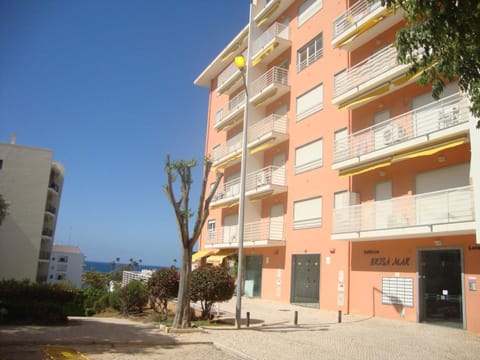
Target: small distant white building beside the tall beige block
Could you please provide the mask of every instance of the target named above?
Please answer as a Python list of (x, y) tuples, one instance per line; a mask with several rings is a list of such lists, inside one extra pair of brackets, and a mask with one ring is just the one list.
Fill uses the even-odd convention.
[(53, 245), (47, 282), (68, 282), (82, 288), (85, 256), (77, 246)]

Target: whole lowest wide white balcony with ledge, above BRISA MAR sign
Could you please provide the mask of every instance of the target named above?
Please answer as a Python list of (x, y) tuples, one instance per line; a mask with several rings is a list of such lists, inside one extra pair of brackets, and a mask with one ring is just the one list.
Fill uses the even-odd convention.
[(408, 239), (475, 233), (471, 186), (333, 210), (332, 240)]

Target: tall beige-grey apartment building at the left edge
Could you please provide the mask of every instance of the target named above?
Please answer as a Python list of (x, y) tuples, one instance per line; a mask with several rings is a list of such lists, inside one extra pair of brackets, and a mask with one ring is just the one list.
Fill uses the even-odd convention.
[(51, 150), (0, 143), (0, 278), (47, 281), (64, 174)]

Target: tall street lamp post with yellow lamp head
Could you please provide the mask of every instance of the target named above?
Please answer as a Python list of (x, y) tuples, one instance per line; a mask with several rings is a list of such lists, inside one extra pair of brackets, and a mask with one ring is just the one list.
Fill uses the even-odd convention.
[(248, 90), (245, 78), (245, 58), (235, 56), (235, 65), (242, 73), (245, 88), (245, 110), (243, 113), (242, 160), (240, 165), (240, 199), (238, 203), (238, 267), (237, 267), (237, 303), (235, 306), (235, 324), (241, 327), (242, 320), (242, 271), (243, 271), (243, 234), (245, 225), (245, 183), (247, 177), (247, 129), (248, 129)]

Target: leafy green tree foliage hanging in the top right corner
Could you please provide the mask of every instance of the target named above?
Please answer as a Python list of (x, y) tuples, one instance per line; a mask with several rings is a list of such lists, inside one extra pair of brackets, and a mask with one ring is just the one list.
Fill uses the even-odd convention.
[[(447, 82), (458, 79), (480, 117), (480, 3), (478, 0), (382, 0), (405, 11), (406, 26), (397, 32), (398, 60), (410, 64), (418, 82), (431, 84), (438, 99)], [(480, 128), (480, 121), (477, 123)]]

